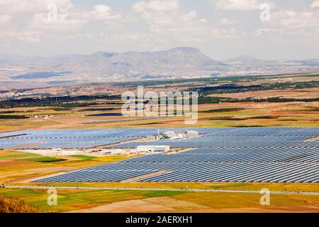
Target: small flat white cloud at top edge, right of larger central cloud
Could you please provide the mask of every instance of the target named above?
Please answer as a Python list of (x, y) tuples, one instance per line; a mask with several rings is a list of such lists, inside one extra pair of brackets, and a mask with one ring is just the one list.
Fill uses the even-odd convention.
[(258, 10), (260, 4), (257, 0), (217, 0), (216, 8), (229, 11)]

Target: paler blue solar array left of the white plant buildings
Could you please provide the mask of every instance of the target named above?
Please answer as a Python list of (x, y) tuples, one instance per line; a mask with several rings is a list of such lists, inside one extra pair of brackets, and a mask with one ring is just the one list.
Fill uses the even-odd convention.
[(0, 148), (92, 148), (156, 134), (157, 129), (25, 130), (0, 133)]

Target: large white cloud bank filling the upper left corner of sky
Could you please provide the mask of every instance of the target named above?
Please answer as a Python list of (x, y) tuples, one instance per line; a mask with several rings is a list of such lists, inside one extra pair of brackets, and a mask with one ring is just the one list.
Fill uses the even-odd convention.
[[(15, 1), (15, 0), (13, 0)], [(105, 26), (103, 29), (109, 32), (116, 33), (117, 24), (123, 23), (121, 14), (113, 11), (109, 6), (96, 5), (91, 8), (76, 6), (69, 4), (69, 0), (50, 0), (50, 1), (33, 1), (34, 9), (24, 8), (24, 0), (21, 0), (21, 5), (18, 10), (14, 9), (9, 1), (0, 0), (0, 5), (11, 10), (11, 15), (0, 14), (1, 36), (0, 43), (3, 40), (11, 40), (11, 42), (19, 41), (21, 43), (40, 43), (42, 40), (52, 39), (57, 42), (63, 42), (63, 39), (68, 40), (70, 37), (81, 39), (89, 37), (92, 33), (84, 31), (84, 26), (91, 21), (103, 21)], [(46, 2), (60, 2), (57, 5), (56, 20), (48, 20), (48, 12)], [(0, 9), (2, 10), (2, 9)], [(17, 13), (28, 13), (31, 19), (26, 21), (11, 22), (11, 17)], [(115, 26), (114, 26), (115, 25)], [(61, 40), (62, 39), (62, 40)]]

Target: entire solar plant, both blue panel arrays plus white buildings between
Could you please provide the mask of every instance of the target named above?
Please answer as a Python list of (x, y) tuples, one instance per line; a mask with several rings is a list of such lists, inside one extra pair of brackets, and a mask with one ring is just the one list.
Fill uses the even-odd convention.
[[(318, 183), (318, 134), (310, 128), (26, 130), (0, 135), (2, 148), (138, 153), (35, 182)], [(70, 135), (73, 135), (72, 137)], [(150, 140), (150, 136), (157, 140)], [(172, 152), (171, 152), (172, 151)], [(61, 152), (61, 151), (60, 151)], [(62, 151), (63, 152), (63, 151)], [(111, 152), (112, 153), (112, 152)]]

